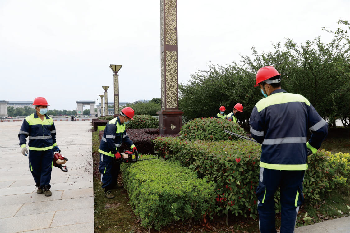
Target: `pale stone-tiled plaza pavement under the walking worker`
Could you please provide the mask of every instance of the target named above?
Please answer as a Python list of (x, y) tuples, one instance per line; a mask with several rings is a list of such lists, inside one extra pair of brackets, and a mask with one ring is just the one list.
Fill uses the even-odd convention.
[(91, 121), (55, 121), (68, 172), (53, 168), (50, 197), (36, 193), (18, 144), (21, 124), (0, 122), (0, 232), (94, 232)]

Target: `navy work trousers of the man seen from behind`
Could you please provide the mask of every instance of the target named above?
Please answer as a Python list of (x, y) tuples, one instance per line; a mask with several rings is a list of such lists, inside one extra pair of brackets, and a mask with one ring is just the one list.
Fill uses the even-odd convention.
[(299, 206), (304, 202), (305, 171), (260, 168), (258, 197), (259, 229), (261, 233), (276, 233), (274, 196), (281, 192), (281, 233), (293, 233)]

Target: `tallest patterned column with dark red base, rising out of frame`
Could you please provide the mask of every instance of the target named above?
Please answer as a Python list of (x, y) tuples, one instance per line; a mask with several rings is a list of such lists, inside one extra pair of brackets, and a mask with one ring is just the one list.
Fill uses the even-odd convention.
[(160, 0), (161, 111), (159, 133), (177, 134), (181, 128), (177, 54), (177, 0)]

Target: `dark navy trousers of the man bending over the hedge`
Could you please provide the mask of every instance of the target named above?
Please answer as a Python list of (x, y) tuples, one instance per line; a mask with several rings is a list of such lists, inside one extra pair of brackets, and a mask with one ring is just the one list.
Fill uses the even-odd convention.
[(102, 188), (111, 190), (118, 184), (120, 161), (113, 160), (114, 157), (100, 153), (100, 167)]

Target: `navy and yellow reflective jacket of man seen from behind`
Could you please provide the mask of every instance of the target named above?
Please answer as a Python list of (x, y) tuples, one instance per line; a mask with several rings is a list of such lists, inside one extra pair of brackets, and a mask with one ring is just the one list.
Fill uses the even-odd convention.
[(276, 170), (306, 170), (307, 148), (316, 153), (328, 132), (327, 122), (305, 97), (282, 89), (258, 101), (249, 125), (262, 144), (260, 167)]

